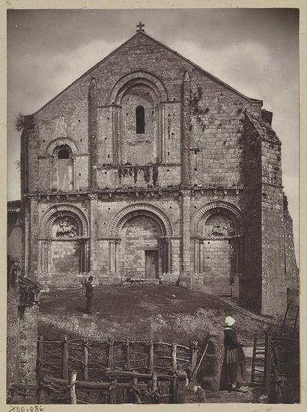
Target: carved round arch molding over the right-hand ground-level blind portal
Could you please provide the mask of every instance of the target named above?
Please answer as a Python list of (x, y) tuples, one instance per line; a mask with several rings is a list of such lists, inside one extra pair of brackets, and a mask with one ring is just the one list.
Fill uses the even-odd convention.
[(216, 213), (222, 213), (232, 218), (236, 228), (236, 233), (239, 235), (244, 234), (245, 217), (241, 209), (235, 205), (232, 205), (232, 203), (224, 201), (214, 201), (201, 206), (191, 220), (191, 234), (193, 236), (201, 236), (201, 223), (205, 222), (209, 216)]

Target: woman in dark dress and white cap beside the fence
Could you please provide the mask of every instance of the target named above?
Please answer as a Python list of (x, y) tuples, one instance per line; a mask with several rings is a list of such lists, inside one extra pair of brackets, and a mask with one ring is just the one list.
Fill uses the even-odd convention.
[(225, 319), (224, 329), (224, 359), (221, 369), (220, 391), (247, 392), (248, 388), (241, 386), (246, 377), (245, 354), (241, 343), (238, 343), (236, 332), (232, 329), (234, 318)]

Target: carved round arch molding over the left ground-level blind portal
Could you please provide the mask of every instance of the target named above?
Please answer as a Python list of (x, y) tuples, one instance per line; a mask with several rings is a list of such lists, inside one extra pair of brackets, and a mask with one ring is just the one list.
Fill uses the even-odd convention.
[(88, 218), (79, 207), (71, 203), (60, 203), (49, 207), (40, 219), (40, 238), (51, 238), (51, 227), (59, 216), (71, 216), (79, 225), (79, 236), (88, 237)]

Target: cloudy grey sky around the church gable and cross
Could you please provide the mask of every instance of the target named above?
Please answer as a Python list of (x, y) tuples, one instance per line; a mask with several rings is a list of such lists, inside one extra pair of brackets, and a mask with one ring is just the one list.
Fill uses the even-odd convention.
[(295, 9), (9, 10), (8, 199), (20, 197), (16, 114), (36, 111), (143, 21), (149, 36), (273, 111), (297, 245), (298, 18)]

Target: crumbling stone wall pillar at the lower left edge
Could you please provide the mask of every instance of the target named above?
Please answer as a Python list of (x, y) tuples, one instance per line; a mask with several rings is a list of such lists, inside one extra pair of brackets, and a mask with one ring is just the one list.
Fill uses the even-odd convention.
[(19, 259), (8, 256), (7, 387), (36, 383), (40, 286), (20, 273)]

